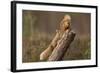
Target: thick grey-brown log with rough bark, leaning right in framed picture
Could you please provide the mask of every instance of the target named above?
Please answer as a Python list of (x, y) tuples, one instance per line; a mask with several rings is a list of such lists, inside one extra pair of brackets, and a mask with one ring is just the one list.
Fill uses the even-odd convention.
[(57, 46), (54, 48), (52, 54), (49, 56), (48, 61), (62, 60), (71, 42), (74, 40), (75, 33), (73, 31), (66, 31), (62, 38), (59, 40)]

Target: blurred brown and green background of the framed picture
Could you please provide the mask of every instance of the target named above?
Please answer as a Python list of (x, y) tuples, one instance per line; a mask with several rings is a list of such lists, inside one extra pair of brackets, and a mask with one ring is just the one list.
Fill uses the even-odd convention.
[(76, 36), (63, 60), (91, 59), (91, 15), (89, 13), (23, 10), (23, 63), (40, 62), (40, 53), (50, 44), (66, 14), (72, 18), (71, 28), (76, 32)]

